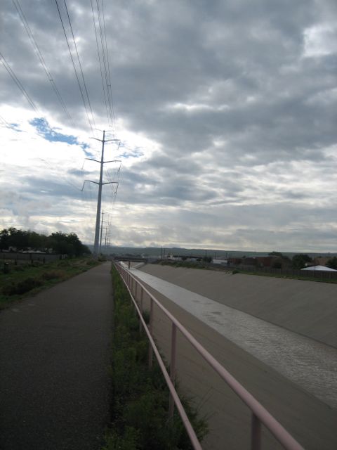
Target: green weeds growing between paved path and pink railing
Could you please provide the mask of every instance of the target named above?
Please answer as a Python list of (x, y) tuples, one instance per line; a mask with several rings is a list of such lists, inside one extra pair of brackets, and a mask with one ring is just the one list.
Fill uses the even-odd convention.
[[(140, 333), (136, 313), (116, 269), (112, 337), (112, 423), (104, 450), (192, 449), (180, 416), (168, 418), (169, 389), (155, 362), (147, 367), (148, 340)], [(206, 434), (204, 421), (184, 401), (199, 439)]]

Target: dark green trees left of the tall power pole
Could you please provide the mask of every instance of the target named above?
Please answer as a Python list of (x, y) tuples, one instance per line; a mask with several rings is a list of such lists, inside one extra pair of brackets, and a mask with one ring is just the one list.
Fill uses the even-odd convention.
[(81, 243), (76, 233), (57, 231), (46, 236), (36, 231), (18, 230), (14, 227), (0, 231), (0, 250), (25, 252), (35, 250), (68, 256), (89, 255), (91, 251)]

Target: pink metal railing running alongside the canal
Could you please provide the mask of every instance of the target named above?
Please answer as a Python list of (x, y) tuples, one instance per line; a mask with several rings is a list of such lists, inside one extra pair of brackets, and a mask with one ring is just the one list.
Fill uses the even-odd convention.
[[(176, 389), (174, 387), (174, 380), (176, 378), (176, 332), (177, 329), (182, 333), (188, 342), (199, 352), (199, 354), (207, 361), (209, 366), (216, 371), (223, 380), (230, 386), (230, 388), (237, 394), (237, 396), (244, 401), (246, 406), (251, 410), (251, 450), (261, 449), (261, 424), (274, 435), (277, 441), (284, 446), (286, 450), (304, 450), (303, 446), (298, 444), (298, 442), (286, 431), (282, 425), (277, 422), (277, 420), (251, 395), (240, 383), (228, 372), (226, 369), (204, 348), (201, 344), (186, 330), (186, 328), (174, 317), (166, 308), (164, 308), (161, 303), (150, 293), (147, 288), (140, 283), (140, 281), (131, 274), (130, 271), (126, 270), (120, 264), (114, 264), (124, 280), (126, 288), (131, 295), (131, 300), (136, 307), (136, 311), (140, 317), (140, 327), (143, 325), (145, 333), (150, 340), (149, 345), (149, 366), (152, 364), (152, 352), (154, 352), (161, 371), (164, 374), (167, 385), (171, 392), (170, 403), (169, 403), (169, 416), (173, 416), (174, 404), (178, 409), (181, 419), (185, 425), (188, 435), (190, 436), (192, 446), (195, 450), (201, 450), (201, 444), (199, 443), (197, 436), (192, 428), (190, 420), (188, 420), (183, 405), (180, 402)], [(140, 288), (140, 302), (139, 306), (136, 301), (138, 295), (138, 287)], [(147, 327), (143, 319), (143, 295), (146, 293), (150, 297), (150, 323)], [(172, 323), (171, 330), (171, 361), (170, 361), (170, 375), (166, 371), (164, 362), (158, 352), (158, 349), (152, 338), (152, 327), (153, 327), (153, 305), (156, 304), (161, 311), (166, 314)], [(174, 403), (173, 403), (174, 402)]]

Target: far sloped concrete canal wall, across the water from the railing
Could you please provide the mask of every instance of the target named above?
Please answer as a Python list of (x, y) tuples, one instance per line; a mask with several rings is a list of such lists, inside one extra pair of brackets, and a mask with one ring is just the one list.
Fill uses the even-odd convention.
[(337, 284), (159, 264), (140, 270), (337, 348)]

